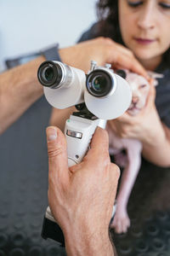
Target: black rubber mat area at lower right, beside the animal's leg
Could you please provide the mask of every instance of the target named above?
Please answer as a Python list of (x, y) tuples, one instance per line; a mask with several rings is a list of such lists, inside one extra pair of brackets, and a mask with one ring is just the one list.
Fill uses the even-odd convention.
[(170, 169), (143, 160), (128, 203), (126, 234), (111, 230), (118, 255), (170, 255)]

